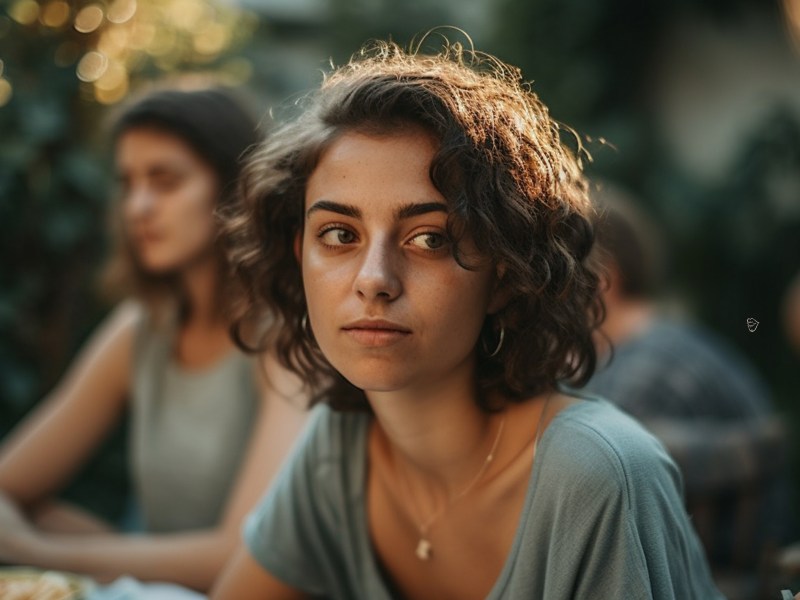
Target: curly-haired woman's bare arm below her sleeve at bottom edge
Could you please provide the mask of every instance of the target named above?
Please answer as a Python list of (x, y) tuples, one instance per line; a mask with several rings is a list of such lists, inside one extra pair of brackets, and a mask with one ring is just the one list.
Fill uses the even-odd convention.
[(265, 571), (241, 546), (220, 575), (209, 600), (304, 600), (306, 594)]

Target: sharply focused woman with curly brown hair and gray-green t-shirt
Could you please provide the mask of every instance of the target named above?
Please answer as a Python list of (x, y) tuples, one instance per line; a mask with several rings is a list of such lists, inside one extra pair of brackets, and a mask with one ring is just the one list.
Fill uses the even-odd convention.
[(250, 316), (325, 403), (213, 598), (720, 597), (663, 448), (562, 385), (595, 363), (592, 211), (516, 69), (366, 48), (243, 192)]

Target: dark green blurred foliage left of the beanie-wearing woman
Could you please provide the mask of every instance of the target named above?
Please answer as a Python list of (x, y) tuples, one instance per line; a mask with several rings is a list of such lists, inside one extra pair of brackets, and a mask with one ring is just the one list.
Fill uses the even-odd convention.
[[(0, 435), (62, 374), (104, 307), (94, 274), (105, 254), (109, 174), (97, 142), (101, 108), (81, 98), (74, 30), (42, 31), (0, 13), (0, 60), (12, 96), (0, 107)], [(114, 517), (127, 493), (120, 436), (67, 495)], [(89, 492), (107, 478), (114, 494)], [(80, 482), (84, 482), (81, 484)], [(82, 493), (86, 490), (86, 494)]]

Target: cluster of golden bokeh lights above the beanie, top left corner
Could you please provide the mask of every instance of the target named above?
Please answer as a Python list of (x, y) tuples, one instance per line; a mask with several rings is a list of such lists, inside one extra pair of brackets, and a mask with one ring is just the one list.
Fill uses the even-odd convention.
[[(246, 59), (219, 62), (258, 23), (224, 0), (11, 0), (8, 16), (0, 20), (9, 26), (16, 21), (67, 34), (53, 52), (54, 64), (74, 68), (81, 97), (103, 104), (122, 100), (154, 68), (213, 73), (229, 85), (244, 84), (253, 73)], [(13, 81), (3, 81), (7, 102)]]

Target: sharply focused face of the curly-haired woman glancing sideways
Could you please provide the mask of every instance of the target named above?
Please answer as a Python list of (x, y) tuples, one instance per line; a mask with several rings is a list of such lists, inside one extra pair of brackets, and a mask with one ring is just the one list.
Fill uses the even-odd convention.
[(455, 261), (447, 202), (428, 175), (436, 150), (421, 130), (345, 133), (309, 178), (301, 254), (314, 336), (365, 391), (430, 389), (472, 378), (495, 269), (469, 240)]

